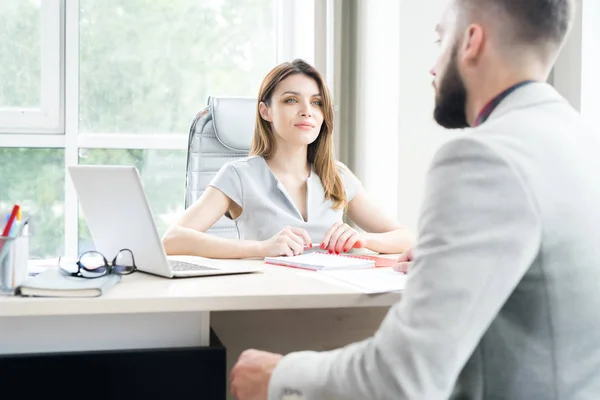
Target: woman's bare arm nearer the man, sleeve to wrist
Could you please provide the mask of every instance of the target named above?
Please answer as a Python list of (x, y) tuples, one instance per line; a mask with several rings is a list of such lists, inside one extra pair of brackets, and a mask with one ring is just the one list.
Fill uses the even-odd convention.
[(378, 253), (402, 253), (414, 245), (414, 235), (381, 211), (364, 189), (348, 203), (348, 217), (366, 233), (363, 247)]

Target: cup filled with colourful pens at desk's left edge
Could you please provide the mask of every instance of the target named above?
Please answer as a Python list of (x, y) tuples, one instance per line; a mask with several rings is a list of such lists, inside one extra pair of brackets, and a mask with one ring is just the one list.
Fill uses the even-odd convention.
[(27, 278), (29, 260), (29, 219), (13, 207), (0, 236), (0, 295), (14, 294)]

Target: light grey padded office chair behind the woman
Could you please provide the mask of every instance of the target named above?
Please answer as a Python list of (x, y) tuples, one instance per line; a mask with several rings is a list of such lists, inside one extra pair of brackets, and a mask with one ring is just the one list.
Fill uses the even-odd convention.
[[(211, 96), (192, 121), (188, 139), (185, 208), (200, 198), (227, 162), (248, 156), (256, 118), (256, 99)], [(235, 223), (221, 217), (206, 233), (238, 238)]]

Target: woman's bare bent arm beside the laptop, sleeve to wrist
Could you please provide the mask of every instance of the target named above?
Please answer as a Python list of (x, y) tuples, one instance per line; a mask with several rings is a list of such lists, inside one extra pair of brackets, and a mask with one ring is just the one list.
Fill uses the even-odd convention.
[(206, 234), (228, 210), (239, 207), (223, 192), (211, 186), (167, 229), (162, 243), (168, 255), (194, 255), (209, 258), (262, 257), (262, 242), (226, 239)]

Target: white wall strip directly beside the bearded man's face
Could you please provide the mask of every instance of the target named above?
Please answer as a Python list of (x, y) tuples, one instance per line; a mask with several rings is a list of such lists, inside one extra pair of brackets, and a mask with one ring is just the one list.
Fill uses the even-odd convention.
[(435, 92), (429, 71), (437, 56), (435, 26), (446, 0), (400, 2), (398, 111), (398, 218), (416, 232), (425, 176), (438, 147), (454, 133), (433, 120)]

